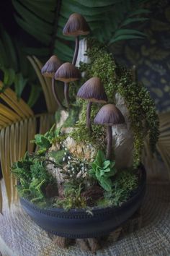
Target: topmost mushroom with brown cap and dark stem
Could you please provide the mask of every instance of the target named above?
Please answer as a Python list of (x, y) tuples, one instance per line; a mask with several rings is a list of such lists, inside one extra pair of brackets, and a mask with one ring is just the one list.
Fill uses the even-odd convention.
[(76, 64), (77, 55), (79, 52), (79, 35), (88, 35), (90, 32), (89, 25), (81, 14), (73, 13), (66, 22), (63, 28), (63, 35), (76, 37), (76, 46), (73, 54), (72, 64)]

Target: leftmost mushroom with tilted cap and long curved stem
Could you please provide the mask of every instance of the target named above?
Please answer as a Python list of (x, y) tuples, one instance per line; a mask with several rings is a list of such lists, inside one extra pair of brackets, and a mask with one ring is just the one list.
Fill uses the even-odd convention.
[(53, 95), (55, 98), (55, 101), (58, 103), (58, 106), (61, 108), (65, 108), (61, 101), (58, 98), (57, 93), (55, 92), (55, 79), (54, 79), (54, 74), (58, 70), (58, 68), (61, 67), (61, 61), (58, 59), (57, 56), (53, 55), (48, 59), (48, 61), (45, 63), (45, 65), (41, 69), (41, 73), (45, 77), (51, 77), (52, 79), (52, 90), (53, 90)]

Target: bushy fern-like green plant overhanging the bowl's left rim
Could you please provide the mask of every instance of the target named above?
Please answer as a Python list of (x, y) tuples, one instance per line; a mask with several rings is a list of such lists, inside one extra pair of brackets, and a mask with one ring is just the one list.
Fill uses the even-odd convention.
[(17, 176), (19, 195), (30, 198), (32, 202), (45, 199), (45, 187), (55, 185), (55, 180), (46, 170), (48, 160), (37, 154), (25, 153), (21, 161), (12, 165), (12, 173)]

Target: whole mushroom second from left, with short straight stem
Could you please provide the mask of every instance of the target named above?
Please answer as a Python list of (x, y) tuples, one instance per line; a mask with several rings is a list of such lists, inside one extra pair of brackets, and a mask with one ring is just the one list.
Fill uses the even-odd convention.
[(66, 62), (59, 67), (57, 72), (55, 72), (55, 80), (60, 80), (64, 82), (64, 95), (66, 103), (69, 106), (69, 95), (68, 95), (68, 82), (79, 80), (81, 73), (73, 64)]

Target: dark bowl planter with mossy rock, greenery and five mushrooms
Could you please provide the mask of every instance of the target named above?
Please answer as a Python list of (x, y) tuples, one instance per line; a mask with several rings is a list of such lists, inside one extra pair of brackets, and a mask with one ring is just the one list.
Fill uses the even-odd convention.
[(63, 35), (76, 38), (72, 63), (54, 55), (42, 67), (58, 103), (55, 124), (12, 166), (24, 210), (42, 229), (71, 239), (109, 234), (138, 210), (144, 140), (149, 135), (152, 151), (158, 140), (155, 106), (136, 68), (120, 67), (89, 33), (84, 17), (69, 17)]

